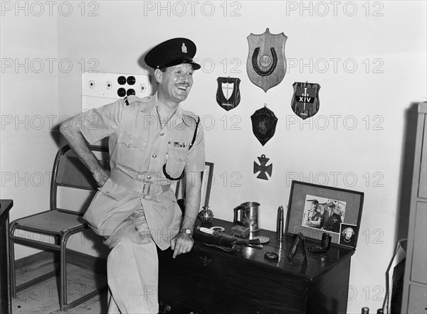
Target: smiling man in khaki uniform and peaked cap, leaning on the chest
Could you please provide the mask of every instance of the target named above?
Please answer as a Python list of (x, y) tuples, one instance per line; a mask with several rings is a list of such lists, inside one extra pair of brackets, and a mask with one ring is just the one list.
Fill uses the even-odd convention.
[[(157, 93), (129, 96), (74, 117), (60, 126), (100, 185), (85, 213), (111, 249), (107, 259), (108, 313), (158, 313), (156, 245), (173, 257), (191, 251), (199, 212), (204, 134), (199, 117), (181, 109), (188, 96), (196, 45), (186, 38), (147, 53)], [(96, 121), (96, 124), (93, 124)], [(72, 123), (70, 123), (72, 122)], [(109, 136), (110, 172), (88, 148)], [(185, 172), (183, 172), (185, 170)], [(184, 219), (170, 184), (186, 175)]]

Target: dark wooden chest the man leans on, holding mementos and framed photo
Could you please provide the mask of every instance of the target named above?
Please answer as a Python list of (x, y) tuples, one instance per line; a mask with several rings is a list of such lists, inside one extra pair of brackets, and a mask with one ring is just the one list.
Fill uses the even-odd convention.
[[(196, 222), (196, 226), (199, 225)], [(231, 222), (213, 220), (226, 228)], [(287, 259), (294, 237), (282, 247), (275, 232), (260, 230), (270, 238), (262, 249), (243, 247), (223, 251), (208, 247), (195, 234), (191, 252), (172, 259), (172, 250), (159, 251), (159, 303), (165, 313), (346, 313), (350, 258), (354, 251), (331, 247), (327, 253), (308, 253), (308, 266), (297, 251)], [(320, 241), (306, 239), (306, 246)], [(281, 254), (279, 261), (265, 259), (265, 251)], [(166, 310), (167, 310), (166, 309)]]

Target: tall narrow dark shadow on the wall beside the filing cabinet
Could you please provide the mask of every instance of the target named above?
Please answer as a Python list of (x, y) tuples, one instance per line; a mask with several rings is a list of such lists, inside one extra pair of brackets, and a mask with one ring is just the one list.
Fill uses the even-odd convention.
[(408, 237), (409, 206), (411, 205), (417, 119), (418, 102), (412, 103), (405, 112), (404, 143), (402, 145), (401, 180), (399, 186), (399, 210), (397, 211), (396, 217), (396, 241)]

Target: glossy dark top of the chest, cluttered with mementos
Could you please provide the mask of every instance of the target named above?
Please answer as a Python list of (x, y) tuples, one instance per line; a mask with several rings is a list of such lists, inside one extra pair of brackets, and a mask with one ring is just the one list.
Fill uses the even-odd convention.
[[(196, 221), (196, 226), (198, 225), (201, 225), (199, 220)], [(201, 226), (221, 226), (225, 228), (226, 234), (231, 234), (231, 227), (233, 227), (233, 223), (227, 222), (225, 220), (214, 219), (209, 225)], [(241, 251), (223, 251), (216, 247), (209, 247), (204, 244), (203, 239), (206, 235), (198, 232), (194, 236), (194, 251), (203, 251), (206, 253), (215, 252), (215, 254), (222, 255), (227, 259), (236, 259), (238, 261), (241, 261), (241, 259), (248, 259), (251, 261), (251, 263), (258, 264), (259, 266), (268, 267), (274, 271), (293, 274), (294, 276), (300, 276), (302, 278), (306, 278), (307, 280), (313, 280), (318, 276), (325, 274), (325, 272), (333, 269), (334, 266), (337, 266), (337, 264), (350, 259), (350, 257), (354, 254), (352, 249), (337, 247), (333, 244), (325, 253), (312, 254), (310, 251), (308, 251), (308, 248), (320, 245), (320, 240), (305, 238), (308, 263), (305, 264), (302, 249), (297, 249), (295, 256), (292, 259), (292, 263), (290, 263), (288, 260), (288, 252), (292, 247), (295, 235), (285, 235), (282, 242), (276, 239), (276, 233), (272, 231), (260, 229), (260, 231), (256, 232), (255, 235), (268, 237), (270, 241), (263, 244), (263, 248), (243, 246)], [(279, 255), (279, 259), (266, 259), (264, 255), (266, 251), (275, 252)]]

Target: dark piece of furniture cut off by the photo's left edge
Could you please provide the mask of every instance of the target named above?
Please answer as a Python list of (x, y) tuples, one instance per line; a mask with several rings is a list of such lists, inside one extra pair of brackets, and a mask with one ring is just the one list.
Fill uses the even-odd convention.
[(13, 200), (0, 200), (0, 313), (12, 313), (9, 281), (9, 210)]

